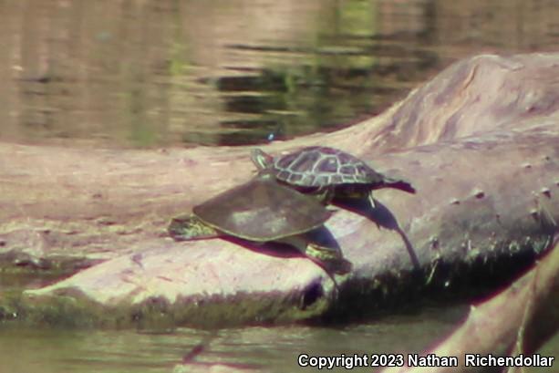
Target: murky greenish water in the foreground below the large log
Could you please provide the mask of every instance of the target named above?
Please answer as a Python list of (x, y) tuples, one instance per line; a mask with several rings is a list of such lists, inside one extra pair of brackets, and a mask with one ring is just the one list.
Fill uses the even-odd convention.
[[(181, 328), (166, 333), (0, 328), (0, 361), (7, 368), (3, 372), (14, 373), (125, 373), (139, 369), (163, 372), (181, 363), (192, 347), (207, 343), (195, 361), (208, 368), (220, 363), (289, 372), (298, 368), (300, 354), (348, 356), (418, 351), (447, 333), (465, 309), (424, 310), (421, 315), (393, 316), (380, 323), (336, 328), (245, 327), (217, 332)], [(418, 323), (418, 316), (424, 322)]]

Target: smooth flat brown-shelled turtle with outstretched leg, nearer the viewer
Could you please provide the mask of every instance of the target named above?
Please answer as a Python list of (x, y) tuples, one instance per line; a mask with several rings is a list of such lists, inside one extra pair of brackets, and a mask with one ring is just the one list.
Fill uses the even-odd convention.
[[(225, 191), (171, 220), (176, 241), (229, 237), (253, 243), (286, 243), (326, 271), (346, 274), (351, 264), (339, 247), (318, 243), (332, 212), (316, 199), (278, 183), (271, 172)], [(327, 230), (326, 230), (327, 231)]]

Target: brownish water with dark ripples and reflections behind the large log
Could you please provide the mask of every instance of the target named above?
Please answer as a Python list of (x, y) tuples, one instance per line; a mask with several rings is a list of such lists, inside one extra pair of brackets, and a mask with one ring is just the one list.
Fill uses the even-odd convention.
[(0, 140), (245, 144), (335, 129), (457, 58), (557, 50), (559, 8), (545, 4), (1, 2)]

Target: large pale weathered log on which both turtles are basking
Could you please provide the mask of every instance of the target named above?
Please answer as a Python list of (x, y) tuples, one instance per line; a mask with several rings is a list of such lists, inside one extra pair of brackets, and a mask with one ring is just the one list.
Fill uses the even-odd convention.
[(5, 309), (34, 322), (220, 326), (499, 285), (557, 231), (558, 64), (559, 54), (471, 57), (376, 118), (264, 147), (333, 146), (417, 189), (377, 191), (376, 210), (326, 222), (353, 264), (336, 278), (295, 254), (166, 236), (171, 217), (254, 176), (247, 148), (0, 143), (2, 267), (74, 274)]

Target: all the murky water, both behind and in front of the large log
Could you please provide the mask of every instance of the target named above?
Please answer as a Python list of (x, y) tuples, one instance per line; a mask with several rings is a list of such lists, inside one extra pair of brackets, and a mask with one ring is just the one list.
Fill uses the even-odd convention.
[[(559, 6), (7, 0), (0, 2), (0, 46), (2, 141), (247, 144), (374, 115), (461, 57), (557, 51)], [(198, 359), (295, 371), (302, 352), (420, 350), (463, 311), (423, 310), (338, 328), (225, 329)], [(171, 371), (208, 335), (0, 326), (0, 372)], [(558, 355), (559, 338), (545, 348)]]

